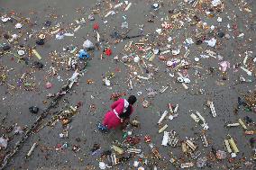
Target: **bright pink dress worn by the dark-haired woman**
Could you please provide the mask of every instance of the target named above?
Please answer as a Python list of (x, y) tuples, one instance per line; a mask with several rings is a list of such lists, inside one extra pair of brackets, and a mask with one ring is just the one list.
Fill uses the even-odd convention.
[[(122, 123), (119, 115), (123, 113), (123, 110), (124, 110), (124, 99), (117, 100), (116, 102), (111, 104), (110, 107), (112, 111), (108, 111), (105, 113), (105, 118), (103, 121), (103, 125), (106, 126), (109, 130), (115, 129)], [(114, 111), (118, 115), (118, 117), (114, 113)], [(133, 113), (133, 106), (132, 106), (132, 113)]]

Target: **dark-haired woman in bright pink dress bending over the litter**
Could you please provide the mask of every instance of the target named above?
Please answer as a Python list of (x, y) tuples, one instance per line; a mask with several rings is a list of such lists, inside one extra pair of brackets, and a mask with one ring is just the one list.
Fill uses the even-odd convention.
[(103, 124), (98, 124), (98, 129), (104, 132), (114, 130), (124, 121), (129, 120), (133, 113), (133, 103), (136, 101), (136, 97), (131, 95), (128, 100), (121, 98), (111, 104), (111, 111), (105, 113)]

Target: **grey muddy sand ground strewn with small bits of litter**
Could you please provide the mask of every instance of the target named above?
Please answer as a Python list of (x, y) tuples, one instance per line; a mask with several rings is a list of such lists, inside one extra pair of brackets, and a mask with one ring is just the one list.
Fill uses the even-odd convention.
[[(67, 70), (67, 54), (69, 58), (69, 52), (64, 52), (63, 48), (67, 46), (77, 46), (78, 49), (82, 48), (84, 40), (92, 40), (96, 42), (96, 32), (92, 27), (95, 22), (99, 24), (99, 34), (101, 35), (101, 49), (91, 52), (92, 58), (88, 61), (87, 73), (81, 76), (78, 80), (78, 85), (74, 85), (71, 92), (66, 94), (60, 101), (57, 108), (54, 108), (50, 112), (58, 112), (65, 106), (76, 105), (78, 102), (82, 103), (82, 106), (78, 109), (78, 114), (72, 117), (72, 121), (69, 123), (69, 139), (60, 139), (59, 133), (61, 133), (61, 124), (58, 122), (53, 127), (45, 127), (42, 130), (32, 134), (32, 136), (26, 140), (21, 150), (14, 155), (5, 169), (99, 169), (98, 162), (102, 151), (111, 149), (110, 146), (114, 140), (122, 141), (122, 130), (114, 130), (110, 134), (102, 134), (96, 129), (96, 122), (102, 121), (105, 112), (109, 110), (109, 105), (112, 103), (110, 95), (115, 92), (123, 93), (127, 95), (135, 94), (138, 97), (138, 102), (135, 104), (135, 112), (132, 116), (141, 121), (141, 128), (134, 128), (133, 135), (139, 135), (142, 141), (135, 146), (135, 148), (141, 148), (145, 157), (148, 157), (149, 162), (153, 162), (150, 156), (150, 148), (143, 141), (145, 135), (150, 135), (152, 143), (154, 143), (160, 150), (160, 154), (163, 157), (158, 162), (157, 167), (159, 169), (174, 169), (175, 167), (169, 163), (169, 154), (172, 152), (173, 156), (178, 159), (183, 159), (183, 162), (194, 162), (191, 157), (184, 157), (181, 148), (171, 148), (161, 146), (161, 140), (163, 134), (159, 134), (159, 126), (157, 125), (160, 119), (160, 114), (164, 111), (168, 111), (168, 103), (178, 104), (178, 118), (174, 120), (164, 120), (164, 124), (168, 124), (168, 131), (176, 130), (179, 135), (179, 139), (186, 140), (186, 138), (196, 138), (197, 134), (202, 133), (202, 127), (197, 125), (195, 121), (190, 118), (192, 112), (200, 112), (208, 123), (209, 130), (206, 130), (206, 136), (209, 141), (209, 147), (205, 148), (202, 145), (201, 139), (195, 139), (197, 144), (197, 150), (201, 151), (200, 157), (208, 157), (207, 162), (211, 163), (213, 167), (205, 167), (205, 169), (232, 169), (234, 163), (241, 164), (242, 169), (250, 169), (252, 166), (245, 166), (245, 162), (254, 163), (251, 157), (253, 156), (252, 148), (249, 143), (249, 139), (255, 138), (254, 136), (245, 136), (242, 127), (226, 128), (224, 125), (228, 122), (237, 122), (239, 118), (243, 119), (245, 116), (249, 116), (255, 121), (255, 113), (246, 112), (241, 107), (237, 114), (235, 114), (234, 107), (237, 104), (238, 96), (241, 94), (248, 94), (255, 90), (255, 62), (252, 61), (255, 58), (255, 3), (253, 1), (237, 1), (227, 0), (224, 1), (224, 12), (212, 12), (215, 15), (208, 17), (204, 11), (209, 10), (211, 1), (206, 1), (202, 4), (201, 8), (197, 6), (192, 7), (192, 4), (183, 4), (184, 1), (166, 0), (160, 3), (160, 9), (154, 11), (151, 9), (151, 4), (157, 3), (157, 1), (135, 1), (131, 0), (132, 6), (126, 12), (123, 11), (123, 7), (118, 8), (115, 11), (115, 15), (104, 17), (105, 13), (110, 11), (109, 4), (118, 4), (115, 1), (92, 1), (92, 0), (9, 0), (0, 1), (0, 14), (12, 13), (19, 17), (29, 19), (29, 22), (23, 22), (23, 28), (19, 30), (14, 28), (16, 21), (14, 22), (0, 22), (0, 42), (6, 43), (3, 38), (4, 33), (18, 34), (22, 37), (17, 40), (16, 43), (11, 43), (11, 51), (16, 53), (18, 46), (23, 44), (24, 49), (36, 47), (37, 51), (41, 54), (41, 63), (44, 67), (39, 70), (31, 67), (33, 61), (38, 59), (30, 56), (28, 57), (28, 65), (24, 62), (18, 63), (17, 58), (12, 54), (5, 54), (0, 57), (0, 74), (7, 74), (5, 83), (0, 85), (1, 103), (0, 103), (0, 118), (1, 131), (0, 135), (11, 136), (14, 132), (6, 133), (8, 127), (13, 126), (15, 123), (18, 126), (25, 127), (31, 126), (37, 119), (38, 115), (45, 109), (50, 103), (50, 99), (46, 98), (47, 94), (54, 94), (59, 91), (59, 88), (72, 76), (73, 70)], [(247, 4), (245, 4), (247, 3)], [(96, 5), (99, 4), (99, 5)], [(125, 6), (124, 6), (125, 7)], [(246, 11), (250, 9), (250, 11)], [(92, 10), (100, 9), (100, 13), (95, 14), (95, 21), (88, 21), (87, 17)], [(124, 55), (129, 55), (132, 52), (140, 54), (137, 49), (133, 48), (129, 51), (123, 50), (125, 44), (130, 40), (123, 40), (118, 44), (114, 44), (114, 40), (110, 37), (112, 31), (125, 32), (125, 29), (121, 28), (123, 22), (123, 16), (125, 15), (126, 21), (129, 23), (129, 29), (131, 31), (128, 35), (136, 35), (138, 33), (150, 34), (147, 42), (151, 44), (151, 47), (155, 49), (161, 49), (166, 47), (167, 44), (171, 44), (171, 49), (178, 49), (181, 47), (181, 52), (178, 56), (166, 55), (171, 58), (183, 58), (186, 53), (184, 46), (184, 40), (192, 38), (194, 42), (195, 35), (198, 32), (203, 32), (202, 29), (197, 26), (190, 26), (186, 22), (184, 17), (178, 18), (179, 21), (185, 22), (181, 29), (173, 29), (173, 31), (163, 31), (161, 35), (155, 31), (161, 28), (161, 19), (169, 18), (178, 12), (181, 12), (183, 16), (189, 13), (184, 13), (184, 9), (190, 9), (189, 13), (197, 14), (202, 21), (206, 22), (208, 26), (215, 25), (215, 31), (223, 31), (225, 34), (230, 34), (230, 39), (219, 38), (216, 36), (216, 32), (212, 35), (206, 33), (206, 39), (209, 40), (215, 37), (217, 44), (214, 48), (208, 47), (206, 43), (202, 45), (196, 45), (195, 43), (187, 46), (190, 49), (190, 53), (185, 60), (189, 63), (189, 68), (186, 69), (191, 82), (187, 85), (189, 88), (185, 90), (184, 87), (176, 82), (177, 75), (175, 77), (169, 76), (169, 74), (176, 74), (178, 71), (174, 71), (172, 68), (166, 66), (166, 61), (160, 60), (156, 57), (151, 63), (146, 61), (149, 66), (147, 69), (152, 74), (149, 80), (137, 80), (133, 78), (133, 90), (129, 89), (128, 79), (133, 72), (138, 72), (141, 76), (147, 76), (146, 69), (138, 67), (133, 61), (124, 65), (121, 61), (114, 61), (114, 56), (118, 56), (120, 59)], [(197, 10), (196, 10), (197, 9)], [(169, 11), (173, 13), (169, 13)], [(190, 15), (193, 20), (193, 14)], [(217, 22), (217, 18), (221, 17), (222, 22)], [(51, 36), (46, 33), (45, 45), (38, 46), (35, 44), (37, 35), (45, 33), (49, 30), (44, 26), (44, 22), (51, 21), (51, 26), (59, 24), (59, 28), (64, 29), (64, 32), (73, 32), (79, 24), (75, 21), (81, 18), (87, 20), (86, 23), (81, 23), (81, 28), (75, 32), (74, 37), (65, 37), (63, 40), (56, 40), (55, 35)], [(152, 19), (154, 22), (147, 22)], [(105, 23), (105, 21), (107, 21)], [(194, 20), (193, 20), (194, 22)], [(73, 24), (71, 24), (73, 23)], [(178, 22), (176, 22), (178, 25)], [(228, 29), (227, 25), (231, 28)], [(143, 25), (143, 27), (142, 27)], [(237, 25), (237, 28), (235, 28)], [(44, 27), (44, 29), (43, 29)], [(142, 30), (140, 28), (142, 27)], [(207, 31), (205, 31), (207, 32)], [(244, 33), (242, 37), (238, 37), (241, 33)], [(28, 35), (32, 34), (32, 38), (28, 39)], [(174, 40), (168, 42), (168, 38), (171, 36)], [(139, 42), (142, 38), (133, 39), (133, 43)], [(131, 39), (132, 40), (132, 39)], [(100, 55), (103, 53), (104, 47), (110, 47), (113, 50), (113, 54), (110, 57), (100, 59)], [(231, 68), (226, 71), (226, 80), (223, 80), (222, 73), (218, 70), (219, 60), (216, 58), (200, 58), (200, 54), (206, 54), (206, 49), (215, 51), (217, 54), (224, 57), (224, 61), (231, 63)], [(50, 53), (56, 51), (57, 57), (50, 58)], [(234, 65), (241, 64), (243, 66), (243, 59), (245, 58), (245, 52), (249, 53), (248, 68), (251, 69), (252, 76), (248, 76), (240, 67), (233, 68)], [(28, 51), (26, 51), (26, 55)], [(200, 58), (199, 62), (194, 60), (195, 57)], [(151, 65), (152, 66), (151, 66)], [(59, 69), (57, 75), (50, 75), (50, 67), (56, 67)], [(209, 71), (209, 68), (214, 68), (213, 72)], [(7, 70), (14, 68), (7, 72)], [(158, 68), (158, 71), (155, 70)], [(181, 72), (185, 69), (180, 69)], [(102, 76), (106, 72), (114, 72), (115, 77), (111, 79), (112, 85), (103, 85)], [(35, 83), (35, 88), (31, 91), (26, 91), (23, 87), (17, 85), (18, 79), (23, 76), (23, 73), (27, 73), (26, 82)], [(239, 77), (243, 76), (246, 79), (250, 79), (252, 83), (240, 83)], [(92, 85), (87, 84), (87, 80), (92, 79), (94, 83)], [(45, 88), (45, 84), (50, 82), (52, 87), (50, 89)], [(12, 90), (9, 85), (14, 85), (15, 90)], [(169, 85), (169, 89), (163, 94), (159, 93), (161, 86)], [(155, 89), (158, 94), (153, 98), (147, 97), (147, 88)], [(201, 91), (201, 93), (198, 93)], [(142, 95), (138, 95), (138, 92), (142, 92)], [(126, 96), (127, 96), (126, 95)], [(64, 100), (65, 99), (65, 100)], [(151, 102), (150, 107), (143, 108), (142, 100), (146, 99)], [(210, 109), (206, 106), (206, 101), (211, 100), (215, 104), (215, 112), (217, 116), (214, 118), (210, 113)], [(43, 103), (48, 101), (48, 103)], [(96, 110), (92, 111), (90, 106), (95, 104)], [(29, 112), (29, 107), (37, 105), (40, 108), (38, 115)], [(49, 121), (51, 114), (45, 119), (44, 122)], [(5, 119), (4, 119), (5, 118)], [(248, 125), (249, 130), (255, 130), (255, 124)], [(211, 148), (226, 150), (224, 148), (224, 139), (227, 139), (227, 135), (230, 134), (237, 147), (240, 149), (238, 156), (230, 163), (228, 158), (223, 161), (216, 161), (209, 158)], [(23, 134), (14, 135), (14, 138), (8, 142), (7, 150), (14, 147), (14, 143), (20, 139)], [(79, 138), (81, 141), (77, 141)], [(37, 142), (39, 145), (34, 149), (32, 156), (25, 158), (26, 153), (31, 148), (32, 144)], [(64, 144), (67, 142), (69, 148), (56, 151), (58, 144)], [(90, 149), (97, 143), (100, 144), (100, 151), (96, 155), (91, 155)], [(72, 146), (78, 145), (80, 150), (75, 153), (72, 151)], [(6, 151), (6, 150), (5, 150)], [(5, 155), (5, 151), (1, 151), (1, 155)], [(143, 158), (145, 160), (146, 158)], [(122, 163), (119, 166), (114, 166), (114, 169), (136, 169), (133, 167), (133, 161), (138, 160), (139, 156), (134, 156), (129, 162)], [(245, 160), (242, 161), (242, 158)], [(145, 169), (151, 169), (150, 166), (142, 165)], [(193, 166), (189, 169), (197, 169), (197, 166)]]

